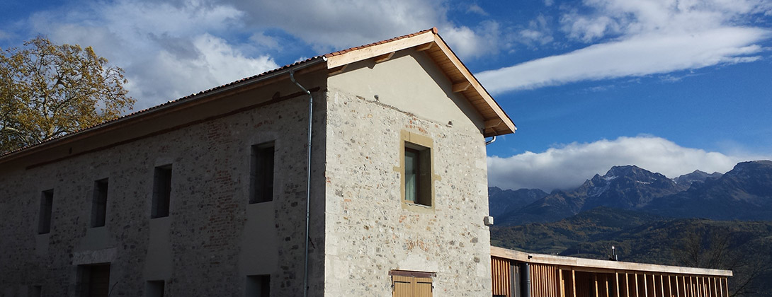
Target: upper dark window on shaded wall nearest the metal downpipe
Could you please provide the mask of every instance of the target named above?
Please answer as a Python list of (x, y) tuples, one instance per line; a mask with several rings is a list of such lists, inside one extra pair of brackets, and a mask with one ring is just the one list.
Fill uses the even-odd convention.
[(274, 143), (252, 146), (249, 174), (249, 204), (273, 201)]

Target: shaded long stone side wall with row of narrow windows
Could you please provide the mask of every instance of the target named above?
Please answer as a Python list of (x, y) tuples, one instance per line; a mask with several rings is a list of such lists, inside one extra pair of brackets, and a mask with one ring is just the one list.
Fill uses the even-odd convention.
[[(325, 88), (326, 73), (298, 76)], [(237, 112), (48, 164), (0, 168), (0, 295), (74, 296), (77, 265), (110, 262), (111, 295), (243, 295), (246, 275), (271, 275), (277, 295), (302, 295), (307, 96), (289, 79), (218, 100)], [(323, 102), (323, 92), (314, 93)], [(269, 100), (272, 100), (269, 103)], [(266, 103), (249, 110), (239, 106)], [(205, 109), (201, 109), (205, 110)], [(188, 113), (195, 117), (195, 114)], [(315, 110), (321, 127), (323, 105)], [(161, 119), (162, 120), (162, 119)], [(274, 199), (248, 204), (253, 144), (275, 141)], [(310, 285), (321, 292), (324, 132), (314, 138)], [(170, 215), (151, 219), (154, 167), (172, 165)], [(107, 221), (90, 228), (94, 181), (109, 178)], [(41, 192), (52, 227), (38, 235)]]

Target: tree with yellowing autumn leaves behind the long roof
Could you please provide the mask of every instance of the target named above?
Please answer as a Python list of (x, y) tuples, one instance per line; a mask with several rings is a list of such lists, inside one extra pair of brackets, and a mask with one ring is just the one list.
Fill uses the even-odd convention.
[(37, 37), (0, 52), (0, 154), (111, 120), (134, 104), (123, 69), (91, 47)]

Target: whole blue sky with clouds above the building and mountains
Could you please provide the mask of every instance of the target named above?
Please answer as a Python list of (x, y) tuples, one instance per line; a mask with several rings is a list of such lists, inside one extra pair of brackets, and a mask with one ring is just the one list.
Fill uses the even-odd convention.
[(0, 47), (93, 46), (126, 70), (136, 109), (432, 26), (519, 128), (488, 147), (491, 185), (772, 156), (772, 1), (0, 3)]

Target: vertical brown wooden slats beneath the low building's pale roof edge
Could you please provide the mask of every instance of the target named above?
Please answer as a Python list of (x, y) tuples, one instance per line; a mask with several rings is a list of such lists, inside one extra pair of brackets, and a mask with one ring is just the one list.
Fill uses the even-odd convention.
[[(520, 296), (519, 288), (513, 288), (512, 284), (513, 278), (522, 278), (522, 275), (513, 273), (513, 268), (520, 268), (523, 261), (491, 256), (494, 296)], [(621, 265), (635, 266), (635, 263)], [(694, 275), (545, 263), (529, 263), (529, 266), (531, 297), (729, 297), (730, 273)], [(699, 271), (683, 270), (689, 269)], [(520, 284), (520, 280), (517, 283)]]

